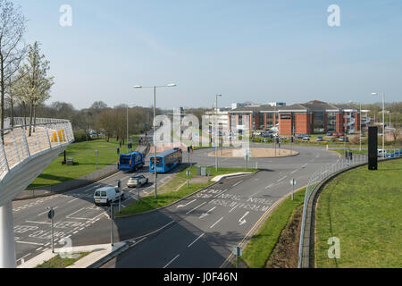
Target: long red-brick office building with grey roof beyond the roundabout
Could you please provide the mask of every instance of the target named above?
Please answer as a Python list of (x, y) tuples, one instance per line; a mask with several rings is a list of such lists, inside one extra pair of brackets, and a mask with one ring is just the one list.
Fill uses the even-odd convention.
[(337, 131), (355, 133), (360, 131), (360, 120), (364, 127), (370, 119), (368, 111), (353, 106), (333, 105), (314, 100), (306, 104), (289, 106), (246, 106), (228, 113), (228, 128), (241, 130), (266, 130), (278, 126), (280, 135), (314, 134)]

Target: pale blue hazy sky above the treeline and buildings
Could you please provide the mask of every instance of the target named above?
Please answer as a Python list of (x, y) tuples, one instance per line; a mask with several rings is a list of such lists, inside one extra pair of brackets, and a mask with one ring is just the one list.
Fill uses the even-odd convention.
[[(13, 0), (54, 87), (47, 103), (212, 107), (402, 98), (400, 0)], [(71, 26), (60, 25), (63, 4)], [(327, 11), (339, 6), (339, 26)]]

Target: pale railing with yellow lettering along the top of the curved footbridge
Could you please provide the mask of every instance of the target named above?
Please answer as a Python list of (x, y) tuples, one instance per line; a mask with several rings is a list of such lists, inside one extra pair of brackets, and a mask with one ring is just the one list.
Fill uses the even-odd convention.
[(36, 124), (24, 122), (24, 118), (16, 117), (13, 127), (0, 130), (0, 180), (29, 157), (74, 141), (71, 122), (67, 120), (37, 118)]

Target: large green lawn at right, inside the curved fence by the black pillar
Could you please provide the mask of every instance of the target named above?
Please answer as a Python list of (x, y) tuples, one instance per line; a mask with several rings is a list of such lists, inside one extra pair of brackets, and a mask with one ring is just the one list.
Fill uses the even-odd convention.
[[(401, 267), (402, 160), (343, 173), (322, 190), (316, 212), (315, 266)], [(327, 252), (340, 240), (340, 258)]]

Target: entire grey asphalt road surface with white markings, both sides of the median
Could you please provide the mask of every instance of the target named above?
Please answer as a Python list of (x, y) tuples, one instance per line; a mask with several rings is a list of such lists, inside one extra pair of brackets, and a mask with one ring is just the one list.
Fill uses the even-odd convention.
[[(105, 207), (94, 206), (92, 196), (96, 188), (113, 185), (117, 179), (125, 186), (130, 174), (123, 172), (62, 195), (14, 202), (17, 263), (25, 266), (32, 258), (49, 251), (46, 206), (53, 206), (56, 242), (70, 238), (74, 248), (106, 245), (110, 243), (111, 225), (115, 242), (137, 241), (104, 267), (220, 267), (233, 246), (244, 240), (255, 223), (289, 194), (290, 179), (297, 180), (295, 189), (303, 187), (313, 172), (339, 158), (323, 148), (293, 148), (300, 153), (298, 156), (251, 158), (248, 166), (258, 164), (261, 172), (223, 179), (172, 206), (119, 217), (113, 223)], [(208, 149), (194, 151), (192, 162), (199, 166), (214, 165), (214, 157), (208, 157), (208, 152)], [(219, 165), (244, 168), (246, 163), (240, 158), (220, 158)], [(154, 176), (147, 169), (140, 172), (150, 181), (140, 189), (140, 195), (144, 196), (153, 191)], [(158, 174), (158, 184), (172, 176), (174, 172)], [(126, 194), (123, 206), (138, 198), (137, 189), (126, 189)]]

